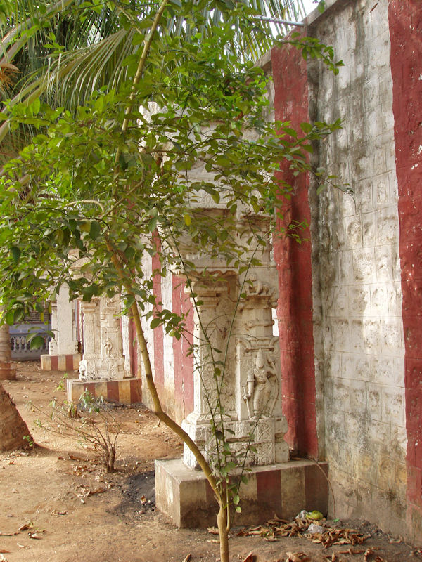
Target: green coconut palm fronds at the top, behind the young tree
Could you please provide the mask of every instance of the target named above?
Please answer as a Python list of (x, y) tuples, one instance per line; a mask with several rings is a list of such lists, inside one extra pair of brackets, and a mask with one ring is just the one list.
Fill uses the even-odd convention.
[[(236, 0), (234, 10), (236, 9)], [(243, 0), (251, 8), (248, 20), (233, 18), (231, 50), (244, 59), (257, 60), (271, 48), (276, 34), (286, 34), (288, 26), (262, 22), (254, 14), (271, 18), (301, 20), (305, 15), (302, 0)], [(41, 97), (53, 105), (76, 107), (101, 86), (117, 87), (127, 77), (124, 60), (135, 54), (148, 30), (148, 18), (155, 12), (155, 0), (129, 0), (122, 4), (104, 3), (91, 8), (83, 0), (13, 0), (6, 23), (0, 21), (1, 64), (13, 64), (19, 70), (8, 74), (0, 84), (0, 96), (10, 96), (11, 105)], [(227, 5), (227, 4), (226, 4)], [(217, 0), (203, 4), (198, 20), (191, 11), (174, 9), (161, 22), (162, 33), (190, 41), (198, 32), (212, 35), (219, 22), (232, 18), (230, 8), (219, 9)], [(190, 8), (191, 10), (191, 8)], [(36, 33), (23, 33), (38, 18)], [(170, 70), (177, 60), (169, 63)], [(1, 78), (1, 77), (0, 77)], [(17, 79), (19, 78), (19, 79)], [(0, 126), (0, 142), (8, 133), (7, 123)], [(18, 143), (19, 144), (19, 143)]]

